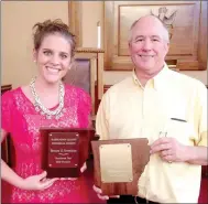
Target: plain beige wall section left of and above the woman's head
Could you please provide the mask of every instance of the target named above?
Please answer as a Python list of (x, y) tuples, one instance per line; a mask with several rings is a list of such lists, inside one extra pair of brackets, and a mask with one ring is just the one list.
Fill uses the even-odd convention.
[(1, 84), (18, 87), (36, 73), (32, 60), (32, 26), (46, 19), (62, 19), (68, 24), (67, 1), (1, 2)]

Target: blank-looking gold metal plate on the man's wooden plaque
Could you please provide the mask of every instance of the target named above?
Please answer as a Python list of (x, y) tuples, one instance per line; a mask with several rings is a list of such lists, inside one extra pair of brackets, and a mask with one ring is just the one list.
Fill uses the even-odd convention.
[(131, 182), (133, 180), (130, 143), (101, 144), (99, 151), (103, 183)]

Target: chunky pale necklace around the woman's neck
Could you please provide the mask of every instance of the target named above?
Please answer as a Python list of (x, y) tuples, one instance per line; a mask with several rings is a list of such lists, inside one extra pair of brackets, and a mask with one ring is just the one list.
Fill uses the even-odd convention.
[(55, 119), (59, 119), (63, 116), (64, 110), (64, 85), (63, 83), (59, 83), (59, 105), (55, 110), (50, 110), (48, 108), (45, 108), (44, 105), (41, 103), (39, 95), (36, 94), (35, 90), (35, 78), (33, 78), (30, 83), (30, 88), (33, 95), (33, 98), (35, 100), (34, 106), (35, 110), (41, 112), (41, 115), (45, 115), (47, 119), (52, 119), (52, 117), (55, 117)]

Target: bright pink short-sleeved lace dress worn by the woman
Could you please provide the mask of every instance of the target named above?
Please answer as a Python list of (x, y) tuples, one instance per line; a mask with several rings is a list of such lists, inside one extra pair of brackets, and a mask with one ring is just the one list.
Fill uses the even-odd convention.
[[(58, 120), (47, 119), (35, 111), (33, 104), (20, 87), (4, 93), (1, 103), (2, 129), (12, 136), (15, 148), (14, 171), (22, 178), (43, 172), (40, 127), (87, 128), (91, 110), (89, 95), (68, 85), (65, 85), (64, 116)], [(74, 181), (56, 181), (44, 191), (10, 187), (11, 203), (88, 203), (87, 185), (83, 175)]]

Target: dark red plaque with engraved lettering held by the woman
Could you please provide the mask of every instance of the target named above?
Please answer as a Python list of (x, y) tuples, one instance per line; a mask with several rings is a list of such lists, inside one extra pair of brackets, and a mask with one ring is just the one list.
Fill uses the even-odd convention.
[(90, 141), (95, 138), (91, 128), (41, 128), (42, 169), (47, 178), (78, 178), (87, 161)]

